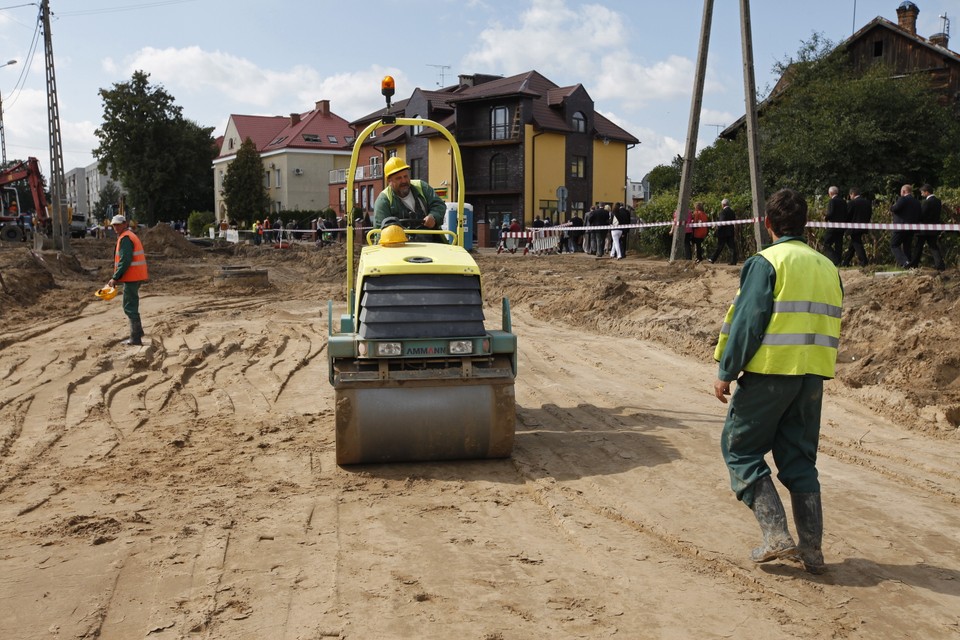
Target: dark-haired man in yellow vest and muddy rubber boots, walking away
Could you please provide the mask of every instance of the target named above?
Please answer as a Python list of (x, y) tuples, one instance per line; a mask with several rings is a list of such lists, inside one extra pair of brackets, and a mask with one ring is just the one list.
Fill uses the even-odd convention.
[[(806, 571), (823, 573), (817, 447), (823, 381), (836, 371), (843, 287), (836, 266), (804, 241), (806, 223), (807, 203), (796, 191), (782, 189), (767, 201), (773, 244), (743, 264), (714, 352), (720, 365), (713, 390), (726, 403), (737, 381), (720, 448), (730, 486), (763, 534), (751, 559), (799, 559)], [(764, 460), (771, 451), (790, 491), (799, 544)]]

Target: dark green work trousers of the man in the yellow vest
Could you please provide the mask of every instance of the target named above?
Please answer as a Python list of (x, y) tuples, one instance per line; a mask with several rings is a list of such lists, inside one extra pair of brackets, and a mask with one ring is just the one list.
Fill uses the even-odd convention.
[(777, 478), (790, 493), (819, 493), (817, 446), (823, 378), (744, 372), (730, 400), (720, 449), (730, 488), (753, 507), (754, 483), (770, 475), (764, 456), (773, 452)]

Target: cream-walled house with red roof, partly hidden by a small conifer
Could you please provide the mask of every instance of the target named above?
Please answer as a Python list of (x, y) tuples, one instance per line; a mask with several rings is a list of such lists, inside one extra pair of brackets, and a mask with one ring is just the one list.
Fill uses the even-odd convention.
[(319, 211), (331, 205), (330, 174), (349, 165), (354, 132), (350, 123), (330, 111), (329, 100), (319, 100), (306, 113), (230, 116), (213, 161), (218, 221), (230, 215), (223, 199), (223, 179), (247, 138), (260, 152), (271, 215), (283, 210)]

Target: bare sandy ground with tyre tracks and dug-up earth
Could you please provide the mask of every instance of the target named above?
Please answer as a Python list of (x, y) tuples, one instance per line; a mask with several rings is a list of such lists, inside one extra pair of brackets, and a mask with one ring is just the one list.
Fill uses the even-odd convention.
[(749, 562), (719, 453), (737, 268), (481, 251), (513, 457), (341, 468), (341, 252), (144, 242), (142, 348), (112, 243), (0, 246), (0, 638), (960, 638), (955, 269), (843, 271), (811, 576)]

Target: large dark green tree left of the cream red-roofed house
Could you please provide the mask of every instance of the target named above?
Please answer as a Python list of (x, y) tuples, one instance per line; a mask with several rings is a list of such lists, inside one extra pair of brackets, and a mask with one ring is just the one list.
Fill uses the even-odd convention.
[[(213, 127), (185, 120), (181, 107), (149, 74), (100, 89), (103, 123), (93, 155), (129, 192), (140, 222), (183, 218), (213, 208)], [(208, 186), (203, 187), (203, 183)]]

